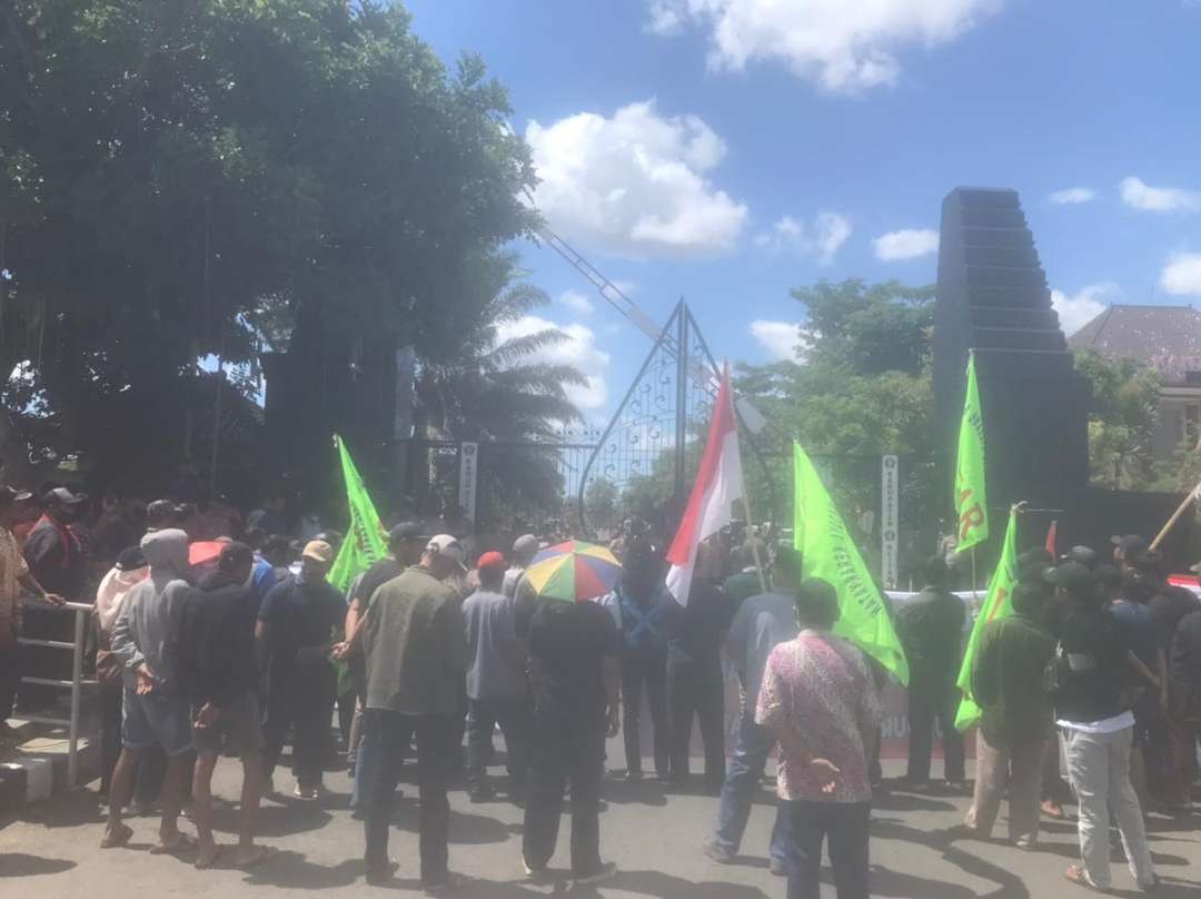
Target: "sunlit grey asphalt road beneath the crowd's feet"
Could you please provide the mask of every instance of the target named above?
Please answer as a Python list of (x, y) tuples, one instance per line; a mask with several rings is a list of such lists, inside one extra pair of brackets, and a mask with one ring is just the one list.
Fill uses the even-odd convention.
[[(616, 744), (610, 757), (620, 758)], [(285, 772), (281, 787), (291, 788)], [(232, 800), (238, 793), (239, 766), (222, 761), (216, 792)], [(252, 873), (219, 867), (197, 871), (191, 857), (150, 856), (155, 835), (150, 818), (131, 821), (130, 849), (101, 851), (100, 816), (94, 794), (35, 808), (24, 820), (0, 824), (0, 897), (22, 899), (129, 899), (130, 897), (202, 895), (222, 899), (304, 895), (322, 891), (329, 897), (420, 895), (417, 877), (417, 811), (414, 791), (398, 803), (392, 855), (401, 863), (392, 887), (368, 887), (363, 881), (362, 824), (346, 808), (349, 781), (345, 773), (327, 775), (328, 798), (310, 805), (292, 799), (264, 803), (262, 841), (275, 853)], [(471, 805), (461, 791), (452, 794), (452, 869), (473, 879), (460, 893), (465, 899), (522, 899), (540, 895), (657, 897), (658, 899), (757, 899), (783, 897), (784, 883), (767, 871), (767, 837), (773, 818), (770, 797), (755, 806), (743, 855), (736, 864), (719, 865), (699, 851), (709, 838), (717, 800), (704, 796), (664, 796), (653, 781), (627, 785), (607, 781), (608, 808), (602, 815), (602, 855), (616, 862), (619, 874), (599, 887), (572, 887), (567, 867), (570, 820), (563, 818), (551, 881), (528, 882), (520, 864), (521, 812), (503, 799)], [(872, 823), (872, 894), (914, 899), (968, 897), (1086, 895), (1063, 880), (1076, 858), (1075, 827), (1050, 823), (1036, 852), (1003, 843), (980, 843), (949, 833), (962, 820), (967, 797), (902, 794), (882, 797)], [(1004, 834), (1004, 817), (998, 833)], [(1196, 899), (1201, 895), (1201, 817), (1151, 817), (1152, 850), (1164, 883), (1158, 897)], [(184, 823), (185, 829), (190, 824)], [(235, 809), (221, 803), (219, 835), (229, 843), (237, 829)], [(1134, 883), (1115, 855), (1115, 887), (1133, 892)], [(1130, 892), (1123, 892), (1130, 891)], [(823, 895), (833, 895), (826, 887)]]

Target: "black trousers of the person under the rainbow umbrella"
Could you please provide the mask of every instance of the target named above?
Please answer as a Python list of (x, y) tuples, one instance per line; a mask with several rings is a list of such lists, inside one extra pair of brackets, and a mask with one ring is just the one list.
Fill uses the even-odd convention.
[(586, 877), (600, 868), (600, 779), (604, 714), (542, 709), (534, 714), (521, 852), (533, 870), (555, 855), (563, 786), (572, 784), (572, 871)]

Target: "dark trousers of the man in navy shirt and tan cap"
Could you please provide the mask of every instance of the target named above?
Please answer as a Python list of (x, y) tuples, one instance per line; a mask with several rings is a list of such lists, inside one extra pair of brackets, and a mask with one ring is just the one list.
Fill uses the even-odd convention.
[(303, 673), (271, 673), (267, 719), (263, 722), (263, 763), (268, 778), (275, 773), (291, 727), (292, 773), (297, 782), (305, 787), (321, 784), (321, 773), (329, 751), (334, 690), (334, 669), (328, 665), (319, 668), (315, 666), (315, 669)]

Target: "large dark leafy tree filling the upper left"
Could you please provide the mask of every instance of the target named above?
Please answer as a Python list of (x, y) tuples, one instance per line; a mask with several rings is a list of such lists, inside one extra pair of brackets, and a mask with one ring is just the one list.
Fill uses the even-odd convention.
[[(363, 335), (453, 352), (532, 224), (508, 113), (399, 4), (0, 5), (10, 410), (36, 394), (60, 450), (147, 475), (189, 448), (169, 423), (205, 355), (250, 363), (264, 334), (309, 359)], [(139, 429), (156, 440), (103, 439)]]

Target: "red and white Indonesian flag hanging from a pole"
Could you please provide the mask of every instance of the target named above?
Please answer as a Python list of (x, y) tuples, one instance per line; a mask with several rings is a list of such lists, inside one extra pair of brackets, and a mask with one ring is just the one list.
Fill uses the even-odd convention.
[(692, 573), (701, 541), (730, 523), (731, 506), (742, 499), (742, 458), (739, 453), (739, 425), (734, 417), (729, 365), (722, 371), (722, 387), (709, 424), (709, 440), (700, 459), (697, 483), (692, 487), (683, 520), (668, 549), (668, 591), (681, 606), (688, 605)]

